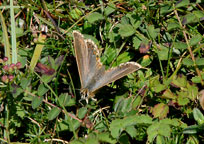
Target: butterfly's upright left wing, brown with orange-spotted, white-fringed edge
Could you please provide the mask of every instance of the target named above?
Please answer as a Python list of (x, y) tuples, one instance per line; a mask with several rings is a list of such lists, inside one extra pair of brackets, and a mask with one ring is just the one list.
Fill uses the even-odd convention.
[(97, 71), (104, 71), (97, 46), (91, 40), (84, 40), (81, 33), (74, 31), (74, 49), (81, 80), (82, 89), (88, 89), (94, 83), (93, 77)]

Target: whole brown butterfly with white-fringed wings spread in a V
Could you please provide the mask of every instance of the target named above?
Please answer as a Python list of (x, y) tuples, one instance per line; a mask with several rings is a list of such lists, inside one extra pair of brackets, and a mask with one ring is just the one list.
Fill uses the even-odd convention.
[(106, 70), (100, 62), (100, 53), (96, 44), (90, 39), (84, 39), (84, 36), (78, 31), (73, 31), (73, 37), (81, 82), (81, 98), (86, 101), (93, 98), (101, 87), (142, 67), (136, 62), (126, 62)]

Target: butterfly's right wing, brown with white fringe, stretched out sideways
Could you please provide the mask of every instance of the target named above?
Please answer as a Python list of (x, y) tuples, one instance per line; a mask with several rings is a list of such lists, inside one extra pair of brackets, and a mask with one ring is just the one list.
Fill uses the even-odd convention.
[(116, 81), (124, 76), (126, 76), (127, 74), (130, 74), (138, 69), (141, 68), (141, 65), (139, 65), (136, 62), (127, 62), (127, 63), (123, 63), (120, 64), (118, 67), (115, 68), (111, 68), (107, 71), (105, 71), (104, 74), (101, 75), (101, 73), (98, 73), (100, 76), (96, 76), (96, 83), (94, 83), (94, 85), (92, 85), (92, 87), (90, 88), (91, 92), (96, 91), (97, 89), (113, 82)]

